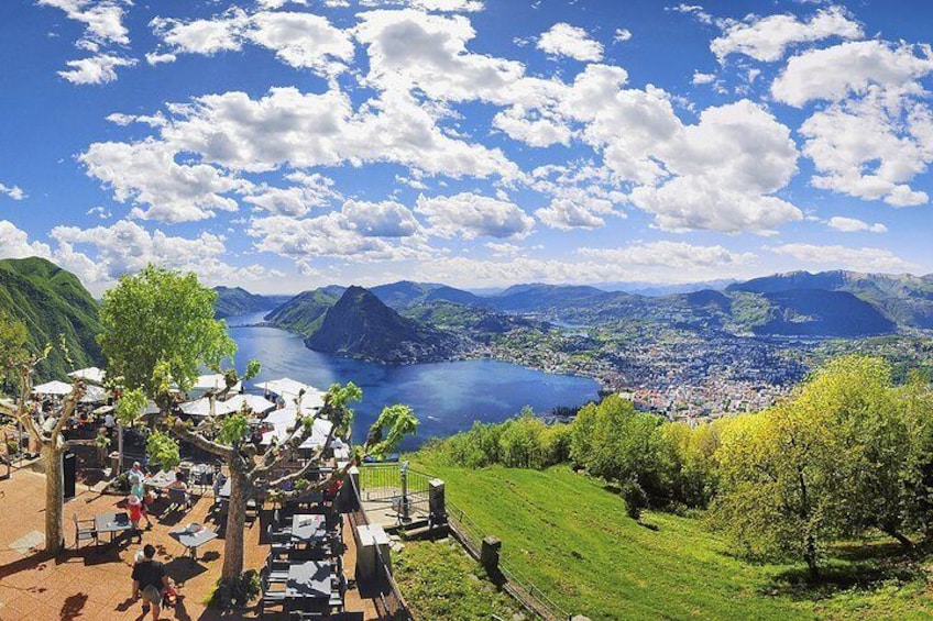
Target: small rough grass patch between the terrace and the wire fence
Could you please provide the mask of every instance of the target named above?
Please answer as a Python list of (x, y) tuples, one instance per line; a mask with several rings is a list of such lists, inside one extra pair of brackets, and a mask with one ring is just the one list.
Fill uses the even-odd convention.
[(489, 621), (522, 610), (452, 539), (407, 542), (393, 569), (417, 619)]

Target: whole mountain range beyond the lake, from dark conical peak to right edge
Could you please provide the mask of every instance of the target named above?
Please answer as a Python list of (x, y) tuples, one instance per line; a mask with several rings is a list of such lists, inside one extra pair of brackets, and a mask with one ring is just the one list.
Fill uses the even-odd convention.
[[(354, 304), (343, 298), (351, 289)], [(305, 291), (266, 320), (303, 334), (312, 348), (371, 359), (399, 359), (399, 355), (408, 359), (418, 352), (443, 357), (462, 348), (464, 340), (482, 343), (491, 334), (531, 326), (547, 330), (551, 324), (641, 322), (788, 337), (861, 337), (903, 328), (933, 329), (933, 276), (792, 273), (732, 282), (723, 290), (666, 296), (545, 284), (516, 285), (490, 296), (413, 281), (373, 287), (371, 297), (363, 297), (362, 288), (351, 289)], [(328, 334), (337, 328), (336, 335)], [(380, 334), (383, 330), (385, 335)], [(359, 331), (374, 345), (354, 340)]]

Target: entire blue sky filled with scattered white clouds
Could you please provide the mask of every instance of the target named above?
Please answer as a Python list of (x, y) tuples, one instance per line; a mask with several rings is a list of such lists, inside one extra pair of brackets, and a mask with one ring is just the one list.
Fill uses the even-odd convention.
[(0, 257), (292, 293), (933, 271), (933, 2), (3, 0)]

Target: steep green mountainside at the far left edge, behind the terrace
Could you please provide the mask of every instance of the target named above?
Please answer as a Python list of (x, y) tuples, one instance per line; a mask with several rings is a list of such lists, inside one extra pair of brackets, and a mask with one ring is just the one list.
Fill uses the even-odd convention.
[(103, 366), (98, 304), (70, 271), (39, 257), (0, 260), (0, 309), (25, 323), (34, 352), (65, 336), (72, 363), (53, 347), (36, 366), (37, 380), (66, 379), (76, 368)]

